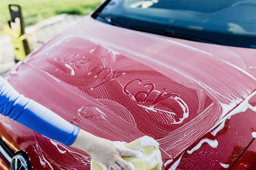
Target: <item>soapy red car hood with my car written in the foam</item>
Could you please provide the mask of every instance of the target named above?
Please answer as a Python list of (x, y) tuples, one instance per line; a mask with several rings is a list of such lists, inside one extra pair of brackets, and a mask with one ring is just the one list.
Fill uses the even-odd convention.
[[(170, 168), (186, 149), (249, 107), (255, 63), (254, 49), (142, 33), (88, 16), (20, 62), (8, 81), (100, 137), (126, 142), (153, 137)], [(20, 136), (33, 135), (23, 147), (37, 144), (38, 155), (57, 148), (83, 164), (90, 162), (52, 140), (45, 144), (36, 132), (12, 129)]]

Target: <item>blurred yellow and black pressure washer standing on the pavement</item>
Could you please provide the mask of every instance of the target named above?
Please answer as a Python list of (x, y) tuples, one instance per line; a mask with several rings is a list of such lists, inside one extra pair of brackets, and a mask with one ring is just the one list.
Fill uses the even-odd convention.
[(11, 20), (9, 23), (9, 34), (11, 35), (11, 42), (13, 44), (15, 62), (24, 60), (25, 57), (31, 53), (29, 41), (25, 35), (25, 26), (21, 13), (21, 7), (16, 4), (9, 4), (11, 13)]

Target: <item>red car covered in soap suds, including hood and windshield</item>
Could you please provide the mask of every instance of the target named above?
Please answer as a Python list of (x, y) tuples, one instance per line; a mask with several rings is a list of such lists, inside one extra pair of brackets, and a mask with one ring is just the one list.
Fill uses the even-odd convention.
[[(255, 170), (255, 48), (254, 0), (107, 0), (7, 79), (99, 137), (153, 137), (163, 170)], [(0, 128), (2, 169), (90, 169), (84, 152)]]

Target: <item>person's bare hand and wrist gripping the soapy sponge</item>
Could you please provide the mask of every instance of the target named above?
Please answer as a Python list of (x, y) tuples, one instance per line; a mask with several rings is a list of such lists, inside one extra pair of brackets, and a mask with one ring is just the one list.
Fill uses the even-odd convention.
[(135, 170), (132, 163), (121, 157), (141, 154), (139, 151), (121, 148), (108, 139), (94, 136), (82, 129), (71, 146), (87, 152), (103, 170)]

